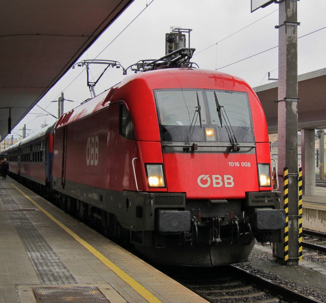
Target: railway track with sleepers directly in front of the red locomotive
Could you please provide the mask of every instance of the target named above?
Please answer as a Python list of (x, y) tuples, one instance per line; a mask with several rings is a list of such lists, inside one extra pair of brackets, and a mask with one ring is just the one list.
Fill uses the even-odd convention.
[(191, 270), (189, 268), (177, 270), (165, 268), (164, 271), (212, 303), (321, 302), (234, 265)]

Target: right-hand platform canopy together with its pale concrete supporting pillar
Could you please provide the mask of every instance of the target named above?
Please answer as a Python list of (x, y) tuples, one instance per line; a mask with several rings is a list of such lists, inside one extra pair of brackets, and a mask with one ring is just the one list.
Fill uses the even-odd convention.
[[(278, 81), (254, 87), (269, 133), (277, 133)], [(298, 76), (298, 131), (301, 131), (303, 194), (315, 195), (315, 129), (326, 128), (326, 68)], [(324, 162), (323, 159), (320, 162)]]

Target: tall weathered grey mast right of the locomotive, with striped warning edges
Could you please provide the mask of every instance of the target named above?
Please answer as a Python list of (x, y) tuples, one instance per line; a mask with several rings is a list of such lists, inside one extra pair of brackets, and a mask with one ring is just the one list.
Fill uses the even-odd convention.
[[(278, 63), (278, 172), (288, 168), (288, 257), (284, 244), (276, 245), (276, 258), (298, 265), (298, 51), (297, 0), (279, 1)], [(279, 184), (283, 175), (279, 174)]]

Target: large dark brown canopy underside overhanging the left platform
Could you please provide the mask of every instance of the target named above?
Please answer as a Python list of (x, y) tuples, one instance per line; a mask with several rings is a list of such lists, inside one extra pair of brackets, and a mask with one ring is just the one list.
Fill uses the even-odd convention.
[(0, 141), (133, 1), (2, 1)]

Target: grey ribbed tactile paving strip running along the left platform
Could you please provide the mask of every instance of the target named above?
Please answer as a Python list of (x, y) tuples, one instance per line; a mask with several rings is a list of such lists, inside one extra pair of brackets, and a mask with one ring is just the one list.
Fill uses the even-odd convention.
[(0, 187), (0, 197), (8, 209), (18, 235), (22, 240), (27, 254), (34, 265), (37, 276), (42, 284), (76, 284), (77, 281), (52, 250), (51, 246), (39, 233), (19, 205), (6, 189)]

